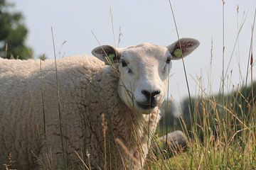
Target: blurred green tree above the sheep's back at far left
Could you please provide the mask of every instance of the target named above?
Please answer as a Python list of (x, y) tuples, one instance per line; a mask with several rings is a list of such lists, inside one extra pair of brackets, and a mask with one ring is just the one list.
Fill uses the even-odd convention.
[(0, 56), (25, 60), (33, 58), (31, 47), (25, 44), (28, 29), (20, 12), (11, 12), (14, 5), (0, 0)]

